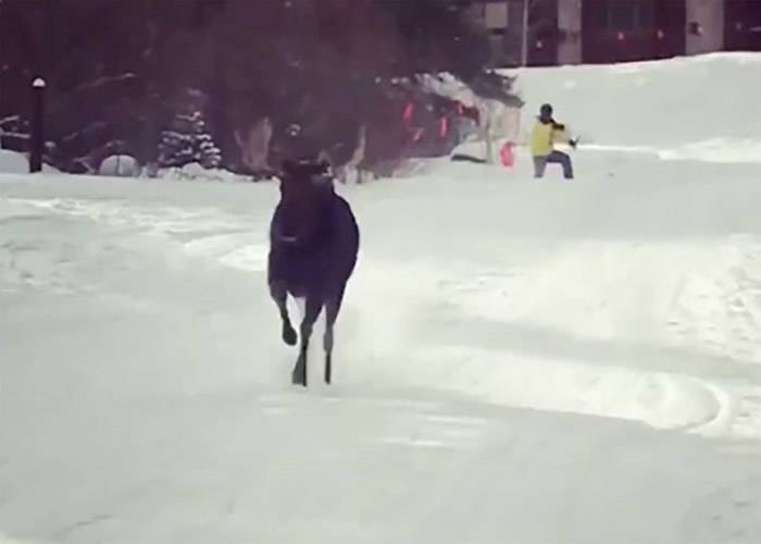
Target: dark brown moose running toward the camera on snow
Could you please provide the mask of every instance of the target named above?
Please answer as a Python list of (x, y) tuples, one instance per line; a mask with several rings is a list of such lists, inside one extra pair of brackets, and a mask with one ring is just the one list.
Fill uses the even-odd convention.
[[(270, 223), (267, 283), (283, 322), (283, 341), (300, 341), (294, 384), (307, 386), (307, 351), (325, 309), (325, 383), (332, 380), (333, 327), (354, 271), (360, 232), (349, 203), (335, 191), (326, 162), (283, 162), (280, 199)], [(303, 299), (297, 335), (288, 316), (288, 295)]]

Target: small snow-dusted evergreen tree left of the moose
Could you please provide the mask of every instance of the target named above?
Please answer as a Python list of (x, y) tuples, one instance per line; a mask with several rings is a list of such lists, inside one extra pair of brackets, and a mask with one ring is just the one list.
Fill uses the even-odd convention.
[(205, 169), (219, 168), (222, 151), (207, 131), (203, 112), (189, 108), (174, 116), (172, 126), (161, 134), (159, 165), (184, 166), (198, 162)]

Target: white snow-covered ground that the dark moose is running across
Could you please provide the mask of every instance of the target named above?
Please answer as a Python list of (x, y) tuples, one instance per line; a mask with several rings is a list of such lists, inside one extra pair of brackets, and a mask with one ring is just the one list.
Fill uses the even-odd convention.
[[(735, 61), (672, 85), (716, 62), (734, 92)], [(606, 111), (616, 70), (523, 82)], [(572, 183), (521, 154), (339, 187), (362, 255), (309, 391), (275, 185), (0, 175), (0, 542), (761, 541), (761, 164), (603, 136)]]

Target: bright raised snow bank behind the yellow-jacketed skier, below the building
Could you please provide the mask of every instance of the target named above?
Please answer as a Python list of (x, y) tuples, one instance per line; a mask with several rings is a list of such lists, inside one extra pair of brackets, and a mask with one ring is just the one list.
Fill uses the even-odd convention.
[(551, 102), (587, 143), (673, 150), (669, 159), (761, 154), (761, 53), (516, 72), (524, 136)]

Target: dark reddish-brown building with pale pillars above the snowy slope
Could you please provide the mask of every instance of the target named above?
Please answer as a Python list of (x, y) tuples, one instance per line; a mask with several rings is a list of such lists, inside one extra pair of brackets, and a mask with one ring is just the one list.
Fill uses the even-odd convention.
[(503, 66), (523, 63), (524, 28), (528, 65), (761, 51), (761, 0), (482, 0), (473, 9)]

